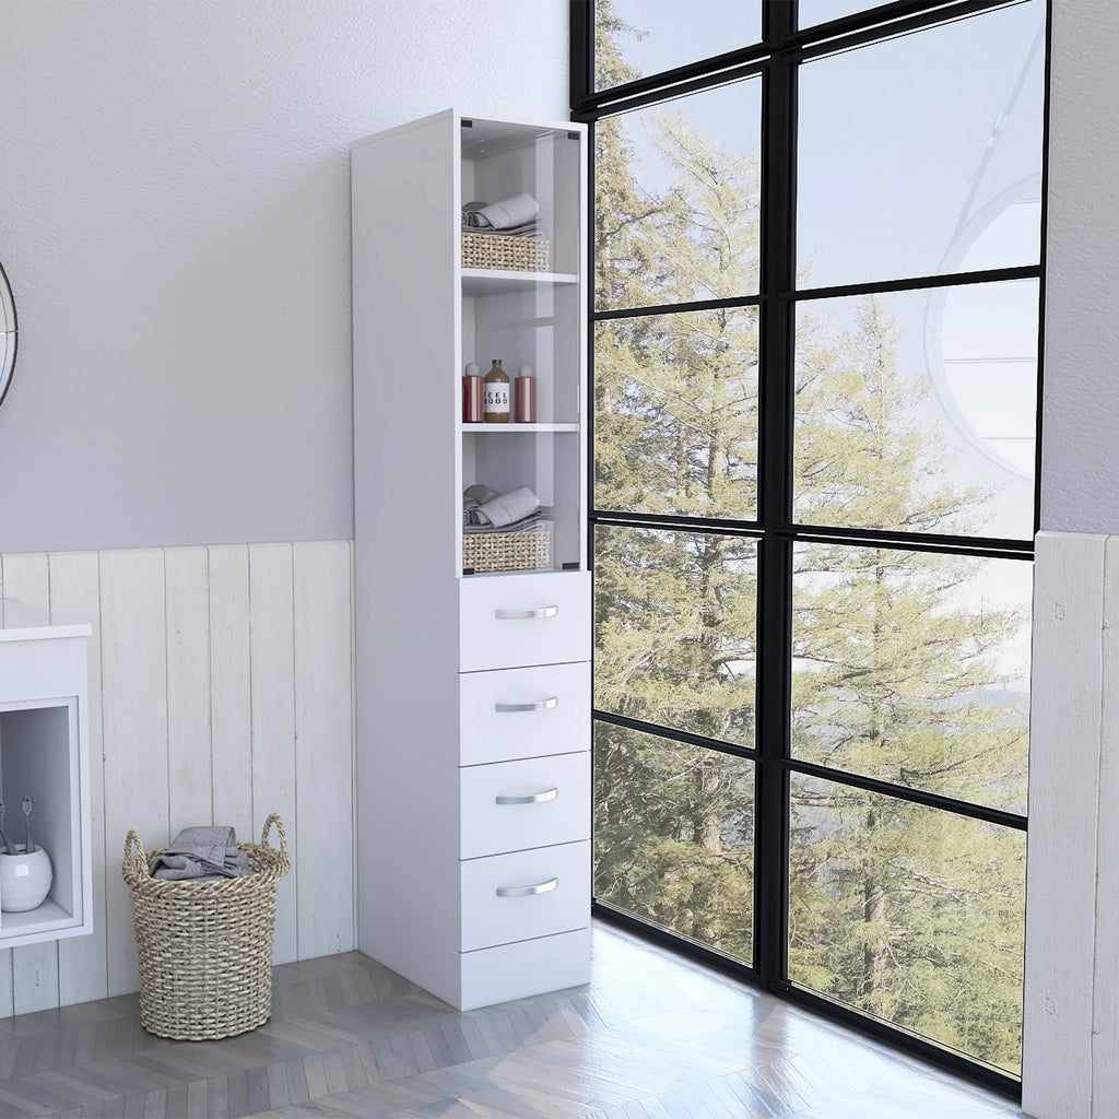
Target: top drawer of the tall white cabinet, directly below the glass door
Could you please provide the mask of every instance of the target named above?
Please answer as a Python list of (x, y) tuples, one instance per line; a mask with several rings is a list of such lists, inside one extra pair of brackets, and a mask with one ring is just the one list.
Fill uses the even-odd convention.
[(464, 673), (591, 659), (591, 573), (544, 572), (459, 581)]

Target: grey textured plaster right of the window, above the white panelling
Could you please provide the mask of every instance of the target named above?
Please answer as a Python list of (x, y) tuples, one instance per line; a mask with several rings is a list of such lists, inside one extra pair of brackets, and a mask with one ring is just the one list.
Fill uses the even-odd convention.
[(1042, 528), (1119, 532), (1119, 4), (1053, 0)]

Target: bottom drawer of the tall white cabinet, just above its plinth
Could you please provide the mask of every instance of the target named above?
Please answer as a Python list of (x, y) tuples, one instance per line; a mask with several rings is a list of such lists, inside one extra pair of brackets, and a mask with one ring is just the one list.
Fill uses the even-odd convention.
[(590, 843), (474, 858), (461, 867), (464, 952), (591, 923)]

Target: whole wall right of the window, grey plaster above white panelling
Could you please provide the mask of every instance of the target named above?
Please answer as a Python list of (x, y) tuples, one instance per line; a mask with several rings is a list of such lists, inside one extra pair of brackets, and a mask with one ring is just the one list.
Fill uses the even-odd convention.
[(1023, 1037), (1037, 1119), (1119, 1115), (1116, 58), (1113, 0), (1053, 0)]

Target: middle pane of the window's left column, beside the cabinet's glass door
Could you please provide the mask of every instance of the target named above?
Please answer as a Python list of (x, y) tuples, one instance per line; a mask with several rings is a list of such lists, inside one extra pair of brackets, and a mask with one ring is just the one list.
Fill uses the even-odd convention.
[(599, 509), (758, 518), (758, 309), (594, 332)]

